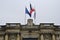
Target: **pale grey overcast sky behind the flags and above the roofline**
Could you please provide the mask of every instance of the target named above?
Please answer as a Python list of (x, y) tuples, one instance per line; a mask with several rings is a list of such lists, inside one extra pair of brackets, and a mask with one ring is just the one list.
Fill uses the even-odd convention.
[(35, 24), (60, 24), (60, 0), (0, 0), (0, 24), (25, 24), (25, 6), (29, 10), (30, 3), (36, 10)]

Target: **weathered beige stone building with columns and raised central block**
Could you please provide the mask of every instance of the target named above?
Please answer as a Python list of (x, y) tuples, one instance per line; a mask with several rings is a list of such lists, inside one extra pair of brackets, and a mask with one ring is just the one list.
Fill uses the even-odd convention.
[(32, 19), (26, 25), (6, 23), (0, 25), (0, 40), (60, 40), (60, 26), (54, 23), (35, 25)]

